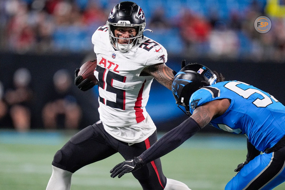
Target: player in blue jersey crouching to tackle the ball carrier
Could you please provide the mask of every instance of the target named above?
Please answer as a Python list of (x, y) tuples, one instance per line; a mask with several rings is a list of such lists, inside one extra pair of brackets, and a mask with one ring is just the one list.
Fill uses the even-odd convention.
[[(217, 83), (215, 79), (217, 77)], [(270, 94), (239, 81), (223, 81), (205, 66), (190, 64), (174, 77), (176, 103), (190, 116), (148, 150), (122, 162), (110, 172), (127, 172), (174, 150), (208, 123), (248, 137), (248, 154), (226, 190), (268, 190), (285, 181), (285, 107)], [(260, 154), (263, 152), (263, 154)]]

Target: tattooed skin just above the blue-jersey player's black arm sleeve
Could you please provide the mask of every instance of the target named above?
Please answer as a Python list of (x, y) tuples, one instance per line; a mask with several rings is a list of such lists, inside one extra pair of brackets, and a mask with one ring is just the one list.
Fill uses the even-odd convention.
[(212, 119), (209, 111), (203, 106), (197, 107), (195, 113), (191, 116), (201, 128), (206, 126)]

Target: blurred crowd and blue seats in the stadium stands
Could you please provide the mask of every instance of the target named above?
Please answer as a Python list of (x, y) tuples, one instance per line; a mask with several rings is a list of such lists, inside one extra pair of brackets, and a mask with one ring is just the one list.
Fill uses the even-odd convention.
[[(1, 51), (46, 54), (90, 52), (91, 35), (104, 25), (115, 0), (2, 0)], [(137, 0), (145, 35), (169, 54), (209, 58), (285, 60), (284, 1)], [(259, 34), (254, 20), (267, 15), (272, 28)]]

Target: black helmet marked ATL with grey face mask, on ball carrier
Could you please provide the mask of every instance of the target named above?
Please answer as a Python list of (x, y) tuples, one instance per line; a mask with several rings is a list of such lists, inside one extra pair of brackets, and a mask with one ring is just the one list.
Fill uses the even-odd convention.
[[(116, 50), (129, 51), (142, 43), (143, 31), (146, 26), (144, 12), (136, 3), (131, 1), (121, 2), (110, 12), (107, 26), (111, 45)], [(134, 27), (137, 35), (132, 38), (118, 38), (114, 32), (116, 26)], [(129, 39), (129, 43), (118, 44), (118, 39)]]

